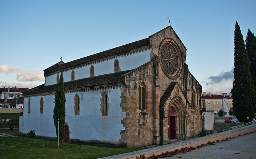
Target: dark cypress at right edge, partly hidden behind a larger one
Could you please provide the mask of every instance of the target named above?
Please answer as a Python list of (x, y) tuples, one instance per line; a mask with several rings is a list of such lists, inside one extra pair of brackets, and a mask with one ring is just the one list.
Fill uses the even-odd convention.
[(245, 48), (248, 55), (248, 58), (251, 62), (251, 75), (253, 77), (254, 85), (256, 85), (256, 37), (248, 29), (246, 40), (245, 40)]

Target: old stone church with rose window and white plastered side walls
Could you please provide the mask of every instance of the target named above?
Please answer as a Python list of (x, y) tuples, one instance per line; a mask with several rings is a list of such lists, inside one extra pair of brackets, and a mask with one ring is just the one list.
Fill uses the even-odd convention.
[(202, 86), (171, 26), (148, 38), (44, 70), (23, 93), (20, 133), (56, 140), (54, 94), (63, 70), (65, 142), (143, 147), (186, 140), (202, 130)]

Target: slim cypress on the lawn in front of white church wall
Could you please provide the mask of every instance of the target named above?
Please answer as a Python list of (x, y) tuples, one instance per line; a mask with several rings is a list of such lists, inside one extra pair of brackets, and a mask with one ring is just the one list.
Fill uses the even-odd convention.
[(57, 84), (57, 88), (55, 88), (55, 107), (53, 110), (53, 121), (54, 126), (56, 128), (56, 135), (58, 138), (58, 119), (59, 119), (59, 144), (62, 147), (63, 139), (66, 138), (65, 134), (65, 118), (66, 118), (66, 109), (65, 109), (65, 92), (64, 92), (64, 83), (63, 83), (63, 75), (62, 70), (60, 73), (59, 83)]

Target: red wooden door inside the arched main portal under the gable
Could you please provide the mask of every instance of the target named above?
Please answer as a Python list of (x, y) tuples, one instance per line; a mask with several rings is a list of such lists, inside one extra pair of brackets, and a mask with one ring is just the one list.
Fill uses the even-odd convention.
[(173, 107), (168, 110), (168, 138), (175, 139), (175, 111)]

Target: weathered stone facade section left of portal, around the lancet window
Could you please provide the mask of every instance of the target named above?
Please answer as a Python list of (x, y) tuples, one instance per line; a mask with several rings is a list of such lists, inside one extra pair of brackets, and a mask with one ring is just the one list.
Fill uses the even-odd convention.
[[(121, 145), (126, 147), (142, 147), (154, 144), (154, 92), (155, 84), (153, 61), (134, 70), (125, 76), (126, 88), (122, 90), (122, 110), (126, 118), (122, 120), (125, 127), (121, 131)], [(139, 85), (146, 86), (145, 110), (139, 110)]]

